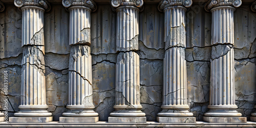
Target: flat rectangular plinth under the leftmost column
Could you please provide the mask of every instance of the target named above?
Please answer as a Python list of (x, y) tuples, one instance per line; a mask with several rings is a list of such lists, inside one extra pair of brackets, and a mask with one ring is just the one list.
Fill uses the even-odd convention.
[(10, 123), (48, 123), (53, 121), (53, 117), (10, 117)]

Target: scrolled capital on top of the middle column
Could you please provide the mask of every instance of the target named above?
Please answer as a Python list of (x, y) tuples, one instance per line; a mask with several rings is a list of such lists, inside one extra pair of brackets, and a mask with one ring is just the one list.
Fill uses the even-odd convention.
[(138, 8), (142, 8), (143, 0), (112, 0), (111, 5), (114, 8), (117, 8), (120, 6), (136, 6)]

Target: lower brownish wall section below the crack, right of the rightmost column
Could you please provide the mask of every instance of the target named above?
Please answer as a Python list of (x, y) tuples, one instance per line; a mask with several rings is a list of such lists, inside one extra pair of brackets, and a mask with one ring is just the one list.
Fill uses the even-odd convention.
[(238, 111), (244, 117), (249, 117), (254, 112), (255, 104), (255, 77), (256, 65), (255, 59), (243, 59), (235, 61), (235, 98), (238, 105)]

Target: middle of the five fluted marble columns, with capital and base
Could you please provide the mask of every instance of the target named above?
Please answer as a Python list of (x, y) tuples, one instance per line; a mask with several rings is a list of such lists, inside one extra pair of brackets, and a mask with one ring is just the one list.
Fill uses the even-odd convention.
[(117, 12), (118, 52), (116, 63), (116, 103), (109, 122), (146, 122), (140, 104), (140, 72), (138, 50), (139, 11), (142, 0), (112, 0)]

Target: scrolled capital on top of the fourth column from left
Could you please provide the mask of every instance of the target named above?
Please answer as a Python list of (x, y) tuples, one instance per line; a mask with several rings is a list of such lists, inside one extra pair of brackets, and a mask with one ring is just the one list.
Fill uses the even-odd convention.
[(162, 12), (165, 8), (170, 6), (184, 6), (189, 8), (192, 3), (192, 0), (161, 0), (158, 5), (158, 10)]

